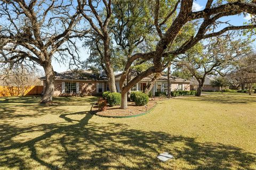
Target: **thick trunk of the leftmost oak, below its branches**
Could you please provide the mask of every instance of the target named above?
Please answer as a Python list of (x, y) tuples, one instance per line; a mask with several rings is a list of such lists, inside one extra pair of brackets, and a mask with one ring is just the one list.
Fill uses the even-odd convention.
[(41, 103), (50, 103), (52, 102), (53, 92), (54, 92), (54, 86), (55, 86), (55, 80), (54, 80), (54, 71), (53, 67), (50, 63), (46, 63), (43, 65), (44, 72), (45, 72), (45, 89), (44, 89), (44, 95), (41, 99)]

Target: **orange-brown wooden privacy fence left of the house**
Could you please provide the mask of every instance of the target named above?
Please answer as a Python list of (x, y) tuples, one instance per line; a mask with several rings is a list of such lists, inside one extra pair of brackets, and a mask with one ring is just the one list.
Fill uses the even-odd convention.
[(7, 87), (0, 86), (0, 97), (41, 95), (43, 86)]

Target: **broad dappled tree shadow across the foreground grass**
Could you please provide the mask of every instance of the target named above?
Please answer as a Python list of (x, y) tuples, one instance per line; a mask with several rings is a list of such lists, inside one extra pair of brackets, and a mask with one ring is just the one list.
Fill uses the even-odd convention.
[[(79, 122), (69, 115), (85, 114)], [(194, 138), (164, 132), (131, 129), (121, 123), (89, 122), (85, 112), (60, 117), (76, 124), (54, 124), (43, 135), (1, 148), (0, 167), (31, 169), (253, 169), (256, 155), (221, 143), (200, 143)], [(174, 160), (156, 156), (170, 152)], [(41, 168), (42, 168), (41, 167)], [(35, 168), (35, 167), (34, 167)]]

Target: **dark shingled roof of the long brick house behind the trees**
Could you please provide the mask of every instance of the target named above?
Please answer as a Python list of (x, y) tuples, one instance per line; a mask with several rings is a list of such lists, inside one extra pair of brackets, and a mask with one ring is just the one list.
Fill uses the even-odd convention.
[[(122, 73), (115, 74), (115, 79), (120, 80)], [(134, 78), (137, 73), (132, 73), (132, 78)], [(142, 81), (151, 81), (153, 75), (149, 75), (146, 78), (143, 78)], [(45, 77), (39, 78), (40, 80), (45, 80)], [(106, 81), (108, 78), (105, 74), (101, 73), (99, 75), (95, 75), (92, 70), (83, 70), (83, 71), (65, 71), (65, 72), (55, 72), (55, 80), (103, 80)], [(167, 75), (162, 75), (158, 80), (167, 80)], [(175, 82), (191, 82), (186, 79), (181, 79), (178, 77), (171, 76), (171, 81)]]

